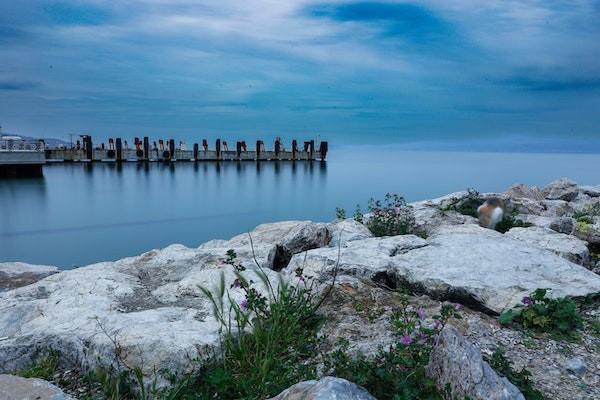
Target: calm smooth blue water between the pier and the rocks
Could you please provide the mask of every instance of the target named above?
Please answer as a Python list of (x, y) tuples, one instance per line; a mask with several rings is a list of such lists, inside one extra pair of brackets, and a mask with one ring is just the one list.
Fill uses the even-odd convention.
[(562, 176), (600, 184), (600, 155), (338, 149), (326, 164), (47, 165), (0, 179), (0, 262), (71, 268), (171, 243), (197, 246), (285, 219), (328, 221), (386, 192), (419, 200)]

